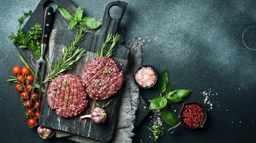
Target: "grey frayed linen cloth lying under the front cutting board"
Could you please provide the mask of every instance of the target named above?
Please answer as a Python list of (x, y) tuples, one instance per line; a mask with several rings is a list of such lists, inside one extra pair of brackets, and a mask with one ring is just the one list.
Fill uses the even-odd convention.
[[(97, 31), (98, 32), (98, 31)], [(51, 33), (51, 37), (49, 40), (49, 47), (54, 46), (56, 29), (54, 29)], [(134, 122), (136, 116), (137, 106), (139, 104), (139, 87), (137, 87), (133, 80), (133, 73), (137, 67), (141, 64), (142, 54), (140, 45), (136, 38), (129, 41), (127, 46), (130, 48), (131, 53), (129, 57), (129, 70), (126, 73), (124, 84), (121, 92), (121, 100), (118, 107), (117, 121), (114, 130), (114, 135), (111, 141), (113, 143), (131, 143), (132, 130), (134, 129)], [(52, 48), (50, 48), (52, 49)], [(51, 52), (51, 51), (50, 51)], [(50, 54), (51, 55), (51, 54)], [(55, 130), (56, 137), (65, 137), (69, 140), (73, 140), (79, 143), (90, 142), (90, 143), (99, 143), (103, 141), (95, 140), (89, 137)]]

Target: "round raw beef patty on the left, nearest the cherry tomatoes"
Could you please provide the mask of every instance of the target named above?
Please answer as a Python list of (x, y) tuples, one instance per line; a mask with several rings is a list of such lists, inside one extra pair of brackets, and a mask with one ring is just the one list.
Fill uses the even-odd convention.
[(50, 83), (47, 100), (57, 115), (73, 118), (87, 107), (88, 98), (85, 92), (85, 84), (75, 74), (60, 75)]

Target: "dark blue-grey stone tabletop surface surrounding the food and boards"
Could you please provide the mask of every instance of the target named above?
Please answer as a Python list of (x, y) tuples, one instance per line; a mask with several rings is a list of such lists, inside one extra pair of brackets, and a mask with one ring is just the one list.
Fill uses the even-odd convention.
[[(121, 22), (126, 30), (124, 44), (133, 37), (145, 40), (141, 46), (142, 62), (154, 66), (159, 74), (167, 69), (171, 90), (191, 89), (184, 102), (203, 104), (202, 92), (211, 90), (209, 100), (213, 109), (207, 112), (202, 129), (182, 127), (174, 135), (168, 135), (171, 126), (163, 123), (165, 135), (157, 142), (253, 142), (256, 139), (256, 51), (250, 49), (256, 49), (256, 2), (125, 1), (128, 7)], [(102, 19), (111, 1), (73, 2), (83, 7), (84, 16)], [(8, 76), (13, 76), (14, 66), (23, 67), (17, 56), (19, 52), (8, 36), (16, 34), (17, 20), (23, 11), (34, 11), (39, 0), (1, 0), (0, 3), (0, 142), (72, 142), (65, 138), (44, 141), (35, 129), (28, 128), (16, 84), (6, 81)], [(145, 101), (160, 95), (157, 87), (140, 93)], [(209, 104), (203, 105), (210, 108)], [(178, 116), (182, 104), (173, 106)], [(149, 137), (152, 133), (143, 127), (152, 126), (149, 116), (152, 114), (134, 130), (134, 143), (154, 142)]]

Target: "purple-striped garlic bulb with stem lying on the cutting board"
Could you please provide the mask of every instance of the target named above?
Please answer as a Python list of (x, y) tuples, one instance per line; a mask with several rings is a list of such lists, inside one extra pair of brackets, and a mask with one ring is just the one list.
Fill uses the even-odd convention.
[(103, 124), (107, 119), (107, 114), (102, 108), (95, 107), (91, 115), (81, 116), (80, 119), (88, 118), (88, 117), (92, 118), (92, 121), (96, 124)]

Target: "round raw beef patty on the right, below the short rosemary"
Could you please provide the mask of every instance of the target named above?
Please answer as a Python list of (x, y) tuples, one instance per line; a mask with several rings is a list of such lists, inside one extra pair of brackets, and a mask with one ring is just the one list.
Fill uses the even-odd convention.
[(81, 78), (90, 98), (105, 100), (122, 87), (124, 75), (113, 59), (102, 56), (87, 63)]

